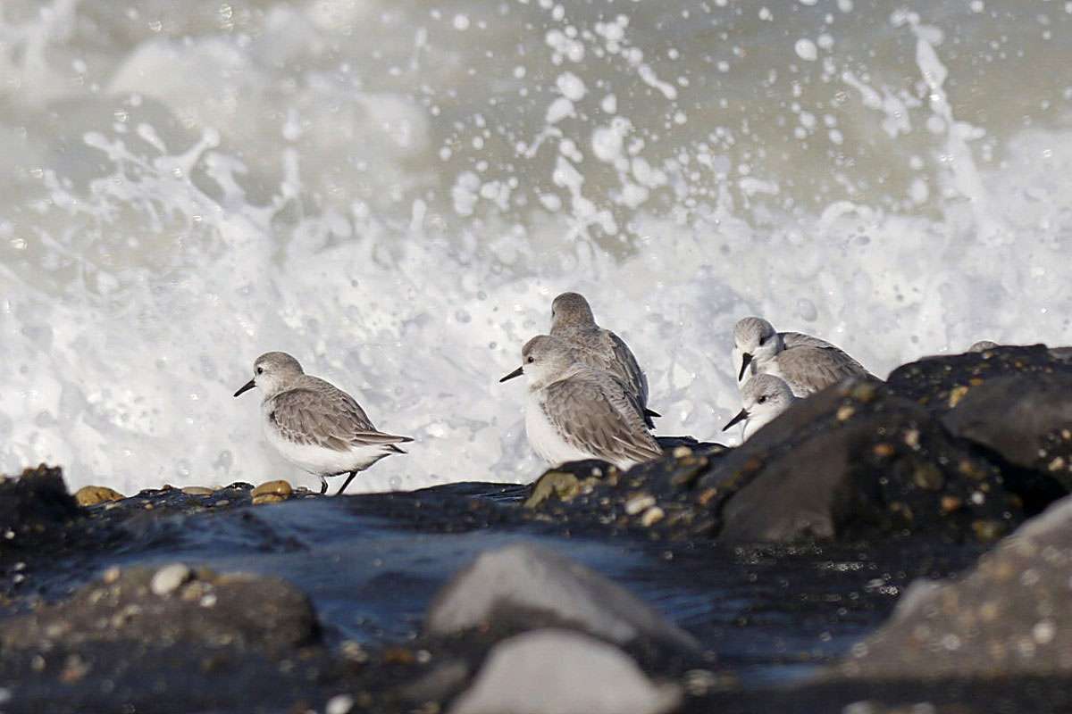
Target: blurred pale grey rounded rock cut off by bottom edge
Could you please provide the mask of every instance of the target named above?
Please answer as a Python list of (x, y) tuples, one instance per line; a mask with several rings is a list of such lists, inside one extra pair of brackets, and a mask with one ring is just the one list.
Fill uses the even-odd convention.
[(496, 644), (450, 714), (665, 714), (681, 687), (653, 683), (621, 650), (539, 629)]

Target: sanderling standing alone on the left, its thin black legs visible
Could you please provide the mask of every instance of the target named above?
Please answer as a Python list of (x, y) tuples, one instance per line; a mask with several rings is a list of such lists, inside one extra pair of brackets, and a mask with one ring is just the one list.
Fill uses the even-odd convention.
[(405, 452), (394, 444), (413, 441), (377, 431), (354, 397), (317, 377), (307, 375), (286, 352), (267, 352), (253, 363), (253, 379), (235, 392), (239, 396), (260, 388), (262, 426), (268, 443), (291, 464), (321, 477), (349, 474), (342, 493), (359, 471), (391, 454)]

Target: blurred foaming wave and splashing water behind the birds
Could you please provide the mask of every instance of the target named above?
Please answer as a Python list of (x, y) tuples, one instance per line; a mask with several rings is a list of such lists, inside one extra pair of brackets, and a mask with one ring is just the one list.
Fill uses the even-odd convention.
[(1072, 2), (2, 0), (0, 471), (271, 476), (260, 352), (415, 437), (351, 490), (539, 472), (498, 384), (584, 292), (661, 434), (733, 322), (873, 371), (1067, 344)]

